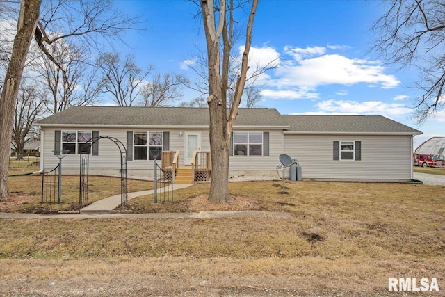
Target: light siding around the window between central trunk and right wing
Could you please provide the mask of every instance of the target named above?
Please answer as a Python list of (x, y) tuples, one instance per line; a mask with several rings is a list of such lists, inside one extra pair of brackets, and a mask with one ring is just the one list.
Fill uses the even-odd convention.
[(282, 130), (236, 129), (234, 132), (269, 132), (269, 156), (230, 156), (229, 170), (275, 170), (283, 151)]

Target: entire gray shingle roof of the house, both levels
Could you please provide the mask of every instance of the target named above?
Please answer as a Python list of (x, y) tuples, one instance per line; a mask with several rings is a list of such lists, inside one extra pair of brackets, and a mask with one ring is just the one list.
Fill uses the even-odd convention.
[[(74, 106), (40, 120), (37, 125), (208, 127), (209, 109)], [(277, 109), (239, 109), (235, 127), (270, 127), (293, 134), (421, 134), (382, 115), (281, 115)]]

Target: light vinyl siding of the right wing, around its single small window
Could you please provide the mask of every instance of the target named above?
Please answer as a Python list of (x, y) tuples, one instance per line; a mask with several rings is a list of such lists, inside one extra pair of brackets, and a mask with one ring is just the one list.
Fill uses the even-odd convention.
[[(298, 160), (305, 179), (410, 179), (411, 139), (411, 136), (287, 134), (284, 152)], [(361, 141), (361, 160), (334, 160), (334, 141)]]

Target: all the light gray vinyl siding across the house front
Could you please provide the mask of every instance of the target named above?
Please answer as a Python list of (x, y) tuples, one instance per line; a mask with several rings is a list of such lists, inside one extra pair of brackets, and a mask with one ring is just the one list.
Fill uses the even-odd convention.
[[(58, 164), (54, 156), (55, 130), (44, 129), (44, 170), (51, 170)], [(97, 127), (70, 130), (99, 131), (99, 136), (118, 138), (127, 146), (127, 131), (131, 129), (99, 129)], [(168, 131), (170, 150), (179, 150), (179, 164), (184, 164), (185, 131), (180, 129), (134, 129), (134, 131)], [(181, 136), (179, 131), (183, 131)], [(209, 151), (209, 129), (201, 131), (201, 150)], [(411, 136), (362, 136), (362, 135), (290, 135), (280, 129), (237, 129), (234, 131), (266, 131), (269, 133), (269, 156), (231, 156), (230, 170), (275, 170), (280, 164), (283, 152), (297, 159), (305, 179), (410, 179), (411, 178)], [(334, 161), (334, 141), (361, 141), (361, 161)], [(152, 170), (153, 161), (128, 161), (129, 170)], [(79, 170), (79, 155), (68, 155), (63, 159), (63, 169)], [(99, 140), (99, 155), (90, 156), (90, 169), (117, 170), (120, 168), (118, 146), (108, 139)]]

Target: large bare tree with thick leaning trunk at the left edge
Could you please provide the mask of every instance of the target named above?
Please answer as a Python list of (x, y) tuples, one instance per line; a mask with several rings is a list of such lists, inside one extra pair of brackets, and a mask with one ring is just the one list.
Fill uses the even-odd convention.
[(47, 45), (59, 40), (76, 40), (90, 49), (101, 51), (104, 43), (111, 45), (111, 40), (120, 38), (120, 33), (137, 26), (138, 18), (113, 9), (111, 0), (47, 0), (41, 15), (40, 6), (41, 0), (20, 1), (17, 31), (1, 89), (0, 198), (8, 195), (8, 152), (14, 109), (31, 40), (35, 39), (40, 50), (65, 75), (63, 65), (51, 56)]

